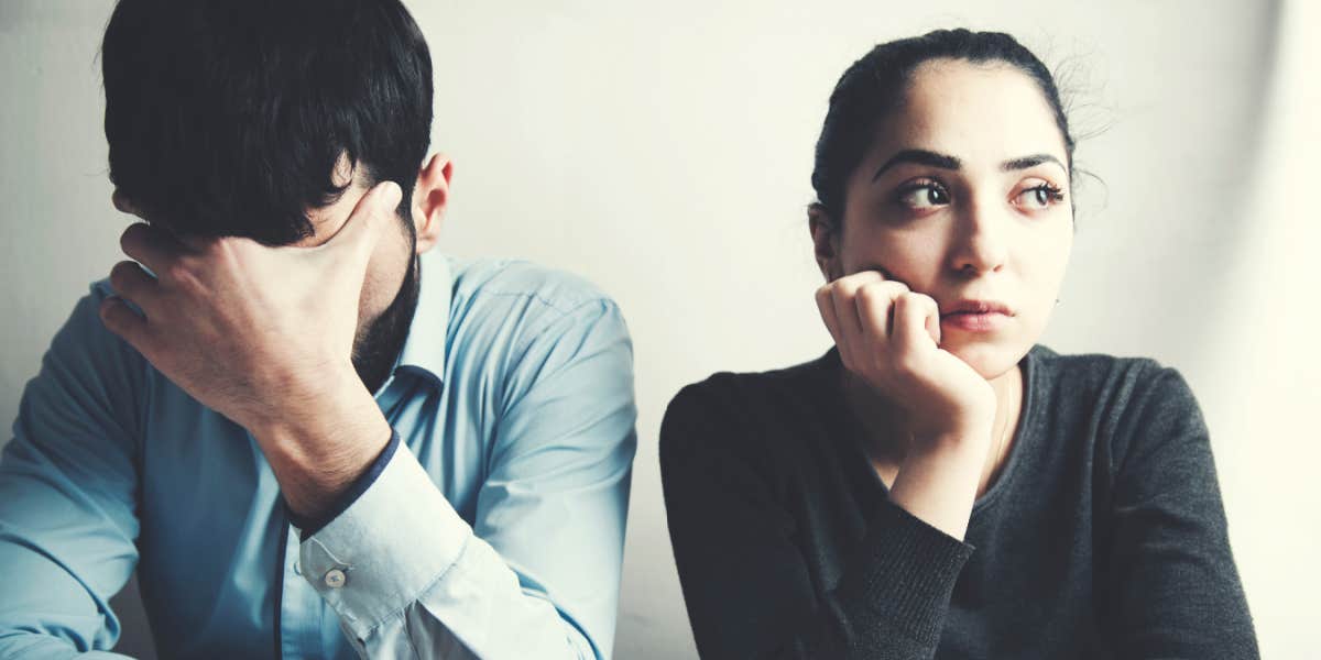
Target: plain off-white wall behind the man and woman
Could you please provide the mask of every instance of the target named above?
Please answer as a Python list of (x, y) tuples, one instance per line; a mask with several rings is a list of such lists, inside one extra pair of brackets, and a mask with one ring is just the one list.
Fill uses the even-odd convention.
[[(0, 420), (119, 259), (96, 48), (111, 0), (0, 0)], [(1085, 136), (1063, 302), (1044, 342), (1184, 371), (1211, 426), (1263, 656), (1316, 657), (1321, 579), (1318, 5), (1165, 0), (410, 3), (456, 161), (441, 249), (600, 282), (637, 347), (639, 449), (616, 655), (695, 656), (657, 430), (679, 387), (828, 346), (803, 207), (843, 69), (939, 26), (1015, 33)], [(8, 436), (0, 437), (0, 442)], [(3, 566), (0, 566), (3, 572)], [(131, 598), (122, 648), (151, 656)]]

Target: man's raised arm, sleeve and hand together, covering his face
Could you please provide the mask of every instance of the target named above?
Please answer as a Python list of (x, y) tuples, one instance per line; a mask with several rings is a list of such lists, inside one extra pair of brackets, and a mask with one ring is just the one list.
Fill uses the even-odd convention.
[[(519, 326), (527, 339), (501, 366), (505, 405), (469, 529), (407, 449), (391, 451), (390, 425), (351, 363), (367, 263), (399, 198), (398, 185), (376, 185), (328, 242), (305, 248), (184, 246), (135, 224), (124, 251), (156, 277), (124, 261), (111, 282), (143, 315), (110, 301), (102, 318), (252, 433), (297, 519), (333, 517), (308, 535), (300, 561), (359, 651), (605, 657), (635, 442), (618, 310), (597, 300)], [(375, 479), (336, 515), (365, 477)]]

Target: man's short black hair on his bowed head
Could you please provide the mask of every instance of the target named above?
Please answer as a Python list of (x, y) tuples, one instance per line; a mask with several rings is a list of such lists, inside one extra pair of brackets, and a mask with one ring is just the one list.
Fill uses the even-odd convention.
[(432, 69), (399, 0), (119, 0), (102, 71), (110, 180), (152, 222), (297, 242), (341, 157), (407, 218)]

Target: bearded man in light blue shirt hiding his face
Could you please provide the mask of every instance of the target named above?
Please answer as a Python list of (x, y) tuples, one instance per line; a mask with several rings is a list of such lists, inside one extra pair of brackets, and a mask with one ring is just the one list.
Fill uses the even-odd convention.
[[(419, 259), (427, 45), (398, 0), (120, 0), (102, 62), (133, 261), (0, 462), (0, 657), (608, 657), (635, 446), (616, 305)], [(141, 265), (139, 265), (141, 264)]]

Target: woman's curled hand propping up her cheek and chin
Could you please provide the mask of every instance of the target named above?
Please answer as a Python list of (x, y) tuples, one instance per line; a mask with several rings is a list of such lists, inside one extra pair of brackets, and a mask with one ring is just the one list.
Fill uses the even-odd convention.
[(906, 413), (914, 449), (945, 438), (989, 438), (995, 391), (941, 348), (935, 300), (864, 271), (818, 289), (816, 305), (844, 367)]

